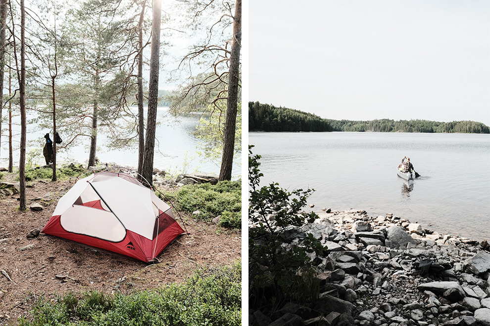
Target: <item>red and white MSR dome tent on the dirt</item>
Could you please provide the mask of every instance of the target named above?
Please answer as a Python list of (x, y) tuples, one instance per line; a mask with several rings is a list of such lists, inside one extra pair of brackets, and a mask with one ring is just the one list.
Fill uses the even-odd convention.
[(42, 232), (146, 262), (184, 233), (152, 190), (129, 173), (108, 171), (78, 180)]

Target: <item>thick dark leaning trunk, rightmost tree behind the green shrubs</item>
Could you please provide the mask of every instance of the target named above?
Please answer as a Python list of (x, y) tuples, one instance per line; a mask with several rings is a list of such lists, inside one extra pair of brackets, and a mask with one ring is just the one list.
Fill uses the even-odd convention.
[(233, 43), (230, 53), (230, 72), (228, 74), (228, 99), (226, 101), (226, 120), (223, 135), (223, 156), (219, 181), (231, 180), (235, 133), (237, 124), (238, 84), (240, 81), (240, 47), (242, 43), (242, 0), (235, 3), (233, 19)]

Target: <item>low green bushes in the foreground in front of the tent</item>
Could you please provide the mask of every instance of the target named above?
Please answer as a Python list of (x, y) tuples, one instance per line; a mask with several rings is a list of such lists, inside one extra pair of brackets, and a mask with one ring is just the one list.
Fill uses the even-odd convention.
[(44, 325), (241, 325), (241, 262), (222, 269), (198, 269), (183, 284), (156, 290), (68, 293), (39, 300), (21, 326)]

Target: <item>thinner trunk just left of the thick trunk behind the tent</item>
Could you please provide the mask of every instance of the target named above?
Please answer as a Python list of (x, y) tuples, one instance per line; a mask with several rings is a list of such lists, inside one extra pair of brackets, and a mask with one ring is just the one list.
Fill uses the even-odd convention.
[(138, 22), (138, 174), (143, 173), (143, 155), (145, 153), (145, 117), (143, 116), (143, 18), (145, 14), (143, 1), (140, 21)]

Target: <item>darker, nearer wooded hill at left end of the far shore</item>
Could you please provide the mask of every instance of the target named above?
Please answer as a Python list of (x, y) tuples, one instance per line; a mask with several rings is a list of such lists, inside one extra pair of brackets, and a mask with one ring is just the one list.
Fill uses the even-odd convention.
[(248, 102), (249, 131), (332, 131), (330, 124), (314, 114)]

